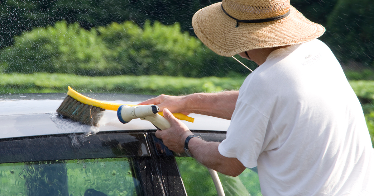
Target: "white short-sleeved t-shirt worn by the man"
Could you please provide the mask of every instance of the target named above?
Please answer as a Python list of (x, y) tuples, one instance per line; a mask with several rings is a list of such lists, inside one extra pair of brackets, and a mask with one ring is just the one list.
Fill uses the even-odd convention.
[(374, 195), (361, 105), (322, 41), (270, 53), (244, 81), (219, 145), (256, 167), (264, 196)]

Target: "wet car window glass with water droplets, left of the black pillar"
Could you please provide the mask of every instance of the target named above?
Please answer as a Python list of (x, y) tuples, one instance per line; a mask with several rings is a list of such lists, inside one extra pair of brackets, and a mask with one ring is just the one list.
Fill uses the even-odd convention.
[(135, 196), (138, 183), (128, 158), (0, 164), (0, 182), (12, 196)]

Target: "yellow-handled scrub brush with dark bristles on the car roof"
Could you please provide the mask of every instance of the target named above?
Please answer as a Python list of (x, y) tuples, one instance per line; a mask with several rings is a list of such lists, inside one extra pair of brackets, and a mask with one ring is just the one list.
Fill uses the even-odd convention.
[[(62, 115), (64, 118), (70, 118), (75, 121), (81, 122), (86, 125), (97, 126), (102, 112), (107, 110), (117, 111), (119, 106), (123, 105), (120, 103), (102, 102), (96, 99), (92, 99), (77, 91), (68, 87), (67, 97), (62, 101), (61, 105), (57, 109), (57, 113)], [(128, 106), (137, 106), (126, 104)], [(161, 116), (162, 112), (159, 112)], [(186, 116), (182, 113), (173, 113), (175, 118), (193, 122), (194, 118)]]

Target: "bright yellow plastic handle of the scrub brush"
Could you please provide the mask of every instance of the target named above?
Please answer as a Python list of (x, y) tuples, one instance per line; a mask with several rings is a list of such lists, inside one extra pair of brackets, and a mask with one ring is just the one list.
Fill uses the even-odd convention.
[[(91, 105), (91, 106), (96, 106), (96, 107), (107, 109), (107, 110), (113, 110), (113, 111), (117, 111), (119, 106), (123, 105), (123, 104), (119, 104), (119, 103), (102, 102), (102, 101), (99, 101), (99, 100), (96, 100), (96, 99), (86, 97), (86, 96), (78, 93), (77, 91), (73, 90), (73, 88), (71, 88), (70, 86), (68, 87), (68, 96), (73, 97), (74, 99), (76, 99), (79, 102), (82, 102), (84, 104)], [(126, 104), (126, 105), (128, 105), (130, 107), (137, 106), (137, 105), (132, 105), (132, 104)], [(159, 114), (162, 116), (162, 112), (159, 112)], [(182, 113), (173, 113), (173, 115), (175, 116), (175, 118), (178, 118), (180, 120), (184, 120), (184, 121), (188, 121), (188, 122), (193, 122), (194, 121), (194, 118), (191, 118), (190, 116), (186, 116)]]

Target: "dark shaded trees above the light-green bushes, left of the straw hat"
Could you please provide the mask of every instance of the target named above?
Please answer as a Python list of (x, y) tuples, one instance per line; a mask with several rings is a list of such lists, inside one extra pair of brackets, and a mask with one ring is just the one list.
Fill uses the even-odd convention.
[(7, 0), (0, 1), (0, 48), (9, 46), (14, 35), (33, 27), (53, 25), (57, 21), (78, 22), (81, 27), (105, 26), (111, 22), (161, 21), (171, 25), (179, 22), (183, 31), (193, 34), (193, 14), (219, 0)]

